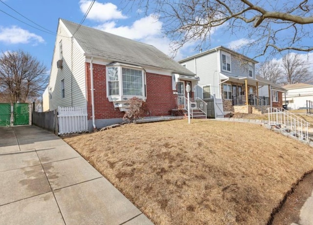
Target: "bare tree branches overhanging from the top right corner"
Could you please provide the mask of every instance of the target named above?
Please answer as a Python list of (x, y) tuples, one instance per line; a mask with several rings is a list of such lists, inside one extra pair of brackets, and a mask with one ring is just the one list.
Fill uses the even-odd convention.
[(284, 50), (309, 52), (312, 39), (313, 3), (309, 0), (127, 0), (127, 6), (153, 12), (163, 22), (173, 51), (186, 42), (210, 47), (217, 28), (246, 37), (242, 53), (255, 50), (255, 57)]

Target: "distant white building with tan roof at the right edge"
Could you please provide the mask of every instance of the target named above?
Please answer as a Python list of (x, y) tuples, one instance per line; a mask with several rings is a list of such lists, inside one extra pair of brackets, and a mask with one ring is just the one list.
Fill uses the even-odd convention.
[(313, 101), (313, 84), (294, 83), (283, 86), (287, 89), (284, 104), (288, 109), (301, 109), (307, 107), (307, 100)]

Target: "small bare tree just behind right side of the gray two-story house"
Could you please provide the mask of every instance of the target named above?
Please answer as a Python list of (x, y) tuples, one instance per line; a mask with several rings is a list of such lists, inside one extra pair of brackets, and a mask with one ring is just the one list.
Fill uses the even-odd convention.
[(283, 70), (279, 61), (264, 61), (257, 65), (257, 75), (273, 82), (282, 83)]

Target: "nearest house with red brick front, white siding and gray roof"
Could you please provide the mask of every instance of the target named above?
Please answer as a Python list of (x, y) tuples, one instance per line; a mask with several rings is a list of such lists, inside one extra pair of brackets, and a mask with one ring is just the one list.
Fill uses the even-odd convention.
[(178, 96), (186, 96), (185, 85), (199, 81), (194, 72), (149, 44), (63, 19), (57, 34), (49, 110), (86, 106), (89, 129), (121, 122), (132, 97), (147, 102), (149, 116), (171, 115)]

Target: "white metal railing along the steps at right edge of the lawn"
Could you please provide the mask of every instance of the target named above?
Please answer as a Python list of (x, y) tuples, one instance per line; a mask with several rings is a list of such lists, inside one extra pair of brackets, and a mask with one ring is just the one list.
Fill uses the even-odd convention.
[(310, 123), (284, 108), (268, 108), (268, 124), (275, 125), (276, 128), (299, 140), (309, 142), (308, 126)]

